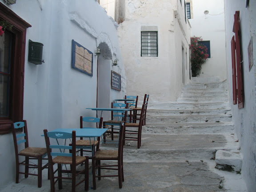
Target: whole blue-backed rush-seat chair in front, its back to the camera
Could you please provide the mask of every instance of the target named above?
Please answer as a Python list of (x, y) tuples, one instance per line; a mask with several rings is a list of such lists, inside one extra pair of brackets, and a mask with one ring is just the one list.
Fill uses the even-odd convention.
[[(48, 161), (49, 161), (49, 175), (51, 181), (51, 192), (55, 191), (55, 184), (58, 181), (59, 189), (62, 189), (62, 180), (72, 180), (72, 192), (76, 191), (76, 187), (79, 184), (84, 183), (84, 190), (89, 189), (89, 171), (88, 171), (88, 156), (76, 156), (76, 131), (72, 133), (67, 132), (48, 132), (44, 129), (44, 138), (47, 148)], [(56, 139), (57, 144), (50, 144), (50, 138)], [(51, 140), (52, 140), (51, 139)], [(72, 139), (72, 145), (66, 145), (66, 139)], [(64, 142), (60, 140), (65, 140)], [(53, 140), (51, 141), (53, 142)], [(62, 144), (64, 143), (64, 144)], [(65, 152), (65, 150), (68, 150)], [(54, 157), (55, 156), (55, 157)], [(54, 158), (53, 158), (54, 157)], [(53, 165), (58, 164), (56, 170), (54, 170)], [(62, 164), (69, 164), (70, 170), (62, 169)], [(76, 166), (84, 164), (84, 169), (76, 170)], [(58, 175), (54, 174), (58, 172)], [(62, 173), (72, 174), (72, 177), (63, 176)], [(84, 178), (76, 183), (76, 176), (84, 174)], [(56, 179), (56, 180), (55, 180)]]

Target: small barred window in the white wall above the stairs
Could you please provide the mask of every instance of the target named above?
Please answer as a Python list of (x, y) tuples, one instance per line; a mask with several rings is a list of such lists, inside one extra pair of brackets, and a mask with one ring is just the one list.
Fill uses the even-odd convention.
[(141, 56), (158, 56), (157, 32), (141, 32)]

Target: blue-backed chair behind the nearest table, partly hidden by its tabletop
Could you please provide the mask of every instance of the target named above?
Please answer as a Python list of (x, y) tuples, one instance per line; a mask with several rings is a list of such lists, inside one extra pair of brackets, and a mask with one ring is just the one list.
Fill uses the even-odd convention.
[[(80, 128), (102, 128), (103, 117), (83, 117), (80, 116)], [(85, 126), (87, 124), (87, 126)], [(79, 148), (76, 152), (80, 152), (80, 156), (83, 156), (84, 152), (92, 152), (92, 156), (100, 148), (100, 137), (95, 141), (83, 140), (83, 137), (80, 140), (76, 141), (76, 148)]]

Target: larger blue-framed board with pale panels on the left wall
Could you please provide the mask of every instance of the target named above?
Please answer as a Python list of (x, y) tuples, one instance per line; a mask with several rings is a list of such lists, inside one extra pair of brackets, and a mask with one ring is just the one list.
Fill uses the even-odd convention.
[(92, 52), (72, 40), (72, 68), (92, 76), (92, 62)]

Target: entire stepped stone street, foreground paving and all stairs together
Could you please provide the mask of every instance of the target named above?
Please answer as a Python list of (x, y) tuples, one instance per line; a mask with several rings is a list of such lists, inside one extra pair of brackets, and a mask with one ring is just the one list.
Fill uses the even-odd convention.
[[(215, 168), (217, 150), (240, 153), (227, 98), (224, 82), (187, 85), (174, 103), (149, 98), (140, 149), (132, 141), (124, 146), (123, 188), (116, 177), (106, 177), (97, 180), (95, 192), (247, 192), (242, 174)], [(115, 146), (100, 144), (101, 149)], [(50, 192), (47, 170), (43, 173), (42, 188), (29, 176), (19, 184), (13, 178), (0, 192)], [(55, 189), (70, 192), (71, 183)], [(76, 191), (84, 191), (83, 185)]]

